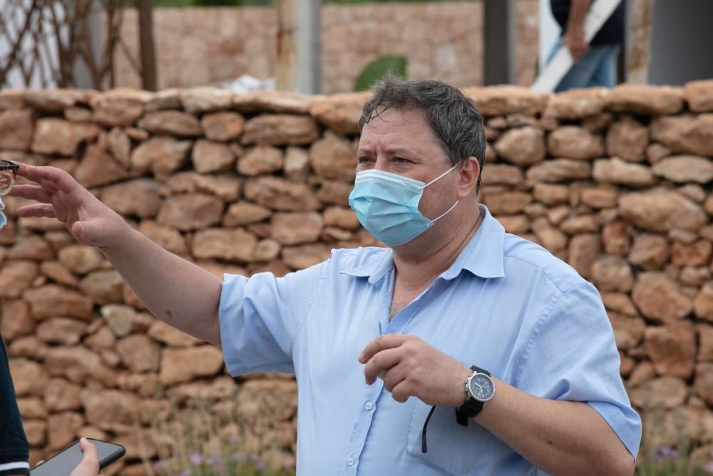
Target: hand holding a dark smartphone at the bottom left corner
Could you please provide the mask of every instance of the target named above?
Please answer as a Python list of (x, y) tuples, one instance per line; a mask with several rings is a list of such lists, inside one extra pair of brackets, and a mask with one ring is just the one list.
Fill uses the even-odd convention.
[(82, 438), (41, 462), (31, 476), (101, 476), (99, 470), (118, 460), (125, 448), (114, 443)]

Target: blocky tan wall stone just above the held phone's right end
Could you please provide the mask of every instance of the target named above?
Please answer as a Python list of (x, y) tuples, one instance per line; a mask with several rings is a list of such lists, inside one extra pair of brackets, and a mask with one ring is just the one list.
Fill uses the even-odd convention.
[(91, 425), (106, 431), (134, 432), (140, 400), (121, 390), (85, 389), (80, 398)]

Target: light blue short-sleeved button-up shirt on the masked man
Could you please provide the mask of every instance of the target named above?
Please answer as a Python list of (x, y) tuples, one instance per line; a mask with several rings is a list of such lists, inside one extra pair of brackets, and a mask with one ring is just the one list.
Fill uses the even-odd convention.
[[(547, 250), (505, 233), (486, 212), (448, 270), (389, 322), (389, 248), (333, 250), (284, 278), (225, 275), (220, 332), (232, 375), (294, 373), (297, 474), (543, 474), (453, 407), (396, 402), (364, 382), (357, 358), (386, 333), (408, 333), (532, 395), (587, 402), (636, 455), (641, 421), (619, 375), (612, 327), (593, 285)], [(581, 428), (587, 431), (587, 428)]]

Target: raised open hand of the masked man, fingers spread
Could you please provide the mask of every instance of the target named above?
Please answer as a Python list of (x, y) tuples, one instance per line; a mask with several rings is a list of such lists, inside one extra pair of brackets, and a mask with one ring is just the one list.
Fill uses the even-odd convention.
[(10, 195), (39, 202), (18, 208), (19, 216), (57, 218), (80, 243), (98, 248), (119, 245), (130, 230), (118, 213), (59, 168), (21, 163), (17, 174), (37, 185), (16, 185)]

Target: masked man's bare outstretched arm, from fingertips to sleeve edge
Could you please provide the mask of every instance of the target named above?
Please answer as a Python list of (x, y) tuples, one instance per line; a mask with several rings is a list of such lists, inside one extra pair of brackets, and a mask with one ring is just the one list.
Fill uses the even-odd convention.
[(38, 185), (15, 186), (11, 195), (39, 202), (19, 208), (19, 216), (57, 218), (80, 243), (103, 251), (153, 315), (220, 344), (220, 278), (133, 230), (65, 171), (21, 164), (18, 173)]

